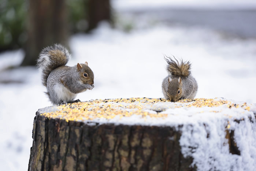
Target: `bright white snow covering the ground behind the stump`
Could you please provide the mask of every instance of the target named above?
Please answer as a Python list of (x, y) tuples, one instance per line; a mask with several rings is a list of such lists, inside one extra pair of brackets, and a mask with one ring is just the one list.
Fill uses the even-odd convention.
[[(138, 26), (127, 33), (103, 23), (90, 35), (73, 36), (70, 48), (73, 59), (68, 65), (87, 61), (95, 76), (95, 88), (77, 96), (82, 101), (163, 97), (161, 83), (167, 76), (163, 54), (166, 54), (192, 62), (192, 74), (199, 85), (197, 98), (225, 97), (256, 103), (254, 39), (226, 39), (201, 27), (169, 27), (161, 23)], [(7, 55), (12, 56), (8, 57), (9, 61)], [(22, 51), (0, 54), (0, 166), (3, 170), (27, 169), (33, 118), (38, 108), (51, 105), (35, 67), (2, 70), (9, 63), (21, 61), (23, 55)]]

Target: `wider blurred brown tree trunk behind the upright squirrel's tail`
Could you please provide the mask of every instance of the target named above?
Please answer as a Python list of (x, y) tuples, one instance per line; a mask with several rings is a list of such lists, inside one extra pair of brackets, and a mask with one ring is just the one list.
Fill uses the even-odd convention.
[(55, 43), (67, 46), (65, 0), (29, 0), (26, 56), (22, 66), (35, 65), (42, 48)]

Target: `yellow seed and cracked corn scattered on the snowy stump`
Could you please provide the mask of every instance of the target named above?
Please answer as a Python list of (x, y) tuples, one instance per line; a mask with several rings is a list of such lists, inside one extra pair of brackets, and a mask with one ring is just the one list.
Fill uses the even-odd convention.
[[(85, 121), (93, 120), (95, 118), (112, 119), (116, 116), (119, 118), (129, 117), (131, 115), (141, 115), (142, 118), (145, 116), (155, 118), (165, 118), (168, 114), (164, 114), (165, 109), (154, 108), (157, 103), (166, 103), (165, 109), (167, 108), (181, 108), (181, 107), (217, 107), (226, 105), (228, 108), (244, 108), (250, 110), (250, 107), (246, 103), (239, 106), (239, 104), (231, 103), (228, 100), (221, 99), (183, 99), (176, 103), (164, 100), (162, 98), (117, 98), (108, 100), (93, 100), (78, 102), (72, 104), (64, 104), (57, 106), (58, 111), (45, 112), (42, 115), (48, 118), (61, 118), (68, 121)], [(171, 104), (171, 105), (168, 105)], [(147, 109), (152, 110), (155, 113), (149, 112)], [(157, 113), (158, 112), (158, 113)], [(218, 112), (218, 111), (211, 111)]]

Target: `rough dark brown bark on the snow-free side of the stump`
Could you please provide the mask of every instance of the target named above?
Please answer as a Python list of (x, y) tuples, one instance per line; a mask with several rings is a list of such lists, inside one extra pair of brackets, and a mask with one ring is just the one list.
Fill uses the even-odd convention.
[(49, 119), (37, 112), (29, 170), (196, 170), (174, 127)]

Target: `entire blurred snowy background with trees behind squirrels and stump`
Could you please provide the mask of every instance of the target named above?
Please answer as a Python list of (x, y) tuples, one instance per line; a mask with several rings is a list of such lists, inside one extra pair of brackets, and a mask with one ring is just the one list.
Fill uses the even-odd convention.
[(33, 119), (50, 106), (38, 53), (54, 43), (88, 62), (95, 88), (77, 96), (163, 97), (164, 55), (190, 60), (196, 98), (256, 103), (255, 0), (1, 0), (0, 166), (27, 170)]

